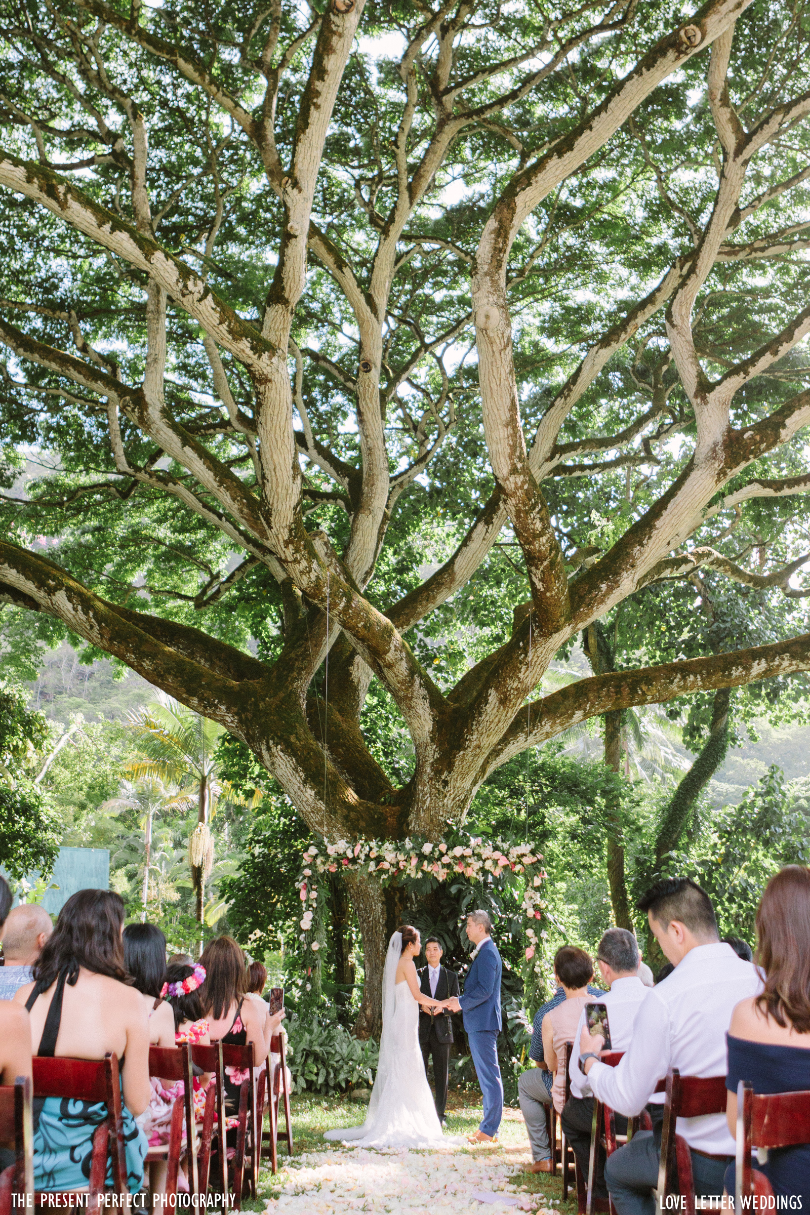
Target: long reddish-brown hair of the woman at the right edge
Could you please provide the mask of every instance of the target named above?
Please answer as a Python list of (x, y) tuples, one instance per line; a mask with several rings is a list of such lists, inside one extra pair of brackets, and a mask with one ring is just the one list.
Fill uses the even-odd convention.
[(757, 910), (755, 960), (765, 971), (757, 1007), (777, 1025), (810, 1033), (810, 869), (786, 865)]

